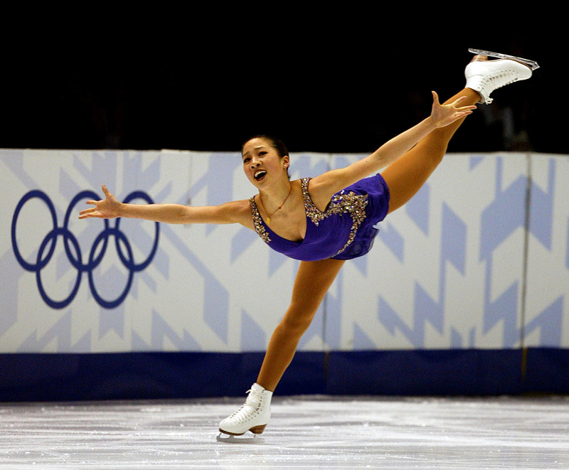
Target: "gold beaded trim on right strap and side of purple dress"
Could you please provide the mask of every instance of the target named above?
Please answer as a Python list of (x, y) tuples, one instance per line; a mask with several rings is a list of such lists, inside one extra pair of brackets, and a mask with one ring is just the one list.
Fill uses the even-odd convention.
[(346, 250), (351, 242), (353, 242), (353, 239), (356, 238), (358, 228), (366, 218), (366, 205), (368, 205), (368, 195), (356, 194), (353, 191), (345, 193), (344, 190), (342, 190), (334, 195), (328, 207), (326, 208), (326, 211), (322, 212), (319, 210), (319, 208), (317, 208), (316, 205), (314, 205), (312, 198), (310, 198), (310, 194), (308, 192), (308, 182), (310, 181), (310, 178), (302, 178), (301, 181), (302, 197), (304, 198), (304, 209), (306, 210), (307, 216), (310, 218), (310, 220), (312, 220), (314, 225), (318, 225), (321, 220), (328, 218), (332, 214), (342, 215), (344, 213), (349, 213), (351, 216), (353, 223), (350, 228), (350, 235), (348, 237), (346, 245), (344, 245), (344, 247), (336, 253), (336, 255), (339, 255), (341, 252)]

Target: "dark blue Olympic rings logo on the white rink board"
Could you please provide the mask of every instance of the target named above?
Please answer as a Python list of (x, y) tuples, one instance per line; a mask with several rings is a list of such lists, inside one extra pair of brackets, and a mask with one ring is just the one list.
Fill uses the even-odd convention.
[[(18, 250), (18, 244), (16, 242), (16, 224), (18, 222), (18, 215), (20, 214), (23, 205), (33, 198), (39, 198), (41, 199), (41, 201), (46, 203), (51, 215), (51, 220), (53, 221), (53, 229), (50, 230), (48, 235), (46, 235), (46, 237), (43, 239), (43, 241), (39, 246), (35, 264), (27, 262), (26, 260), (23, 259), (20, 251)], [(50, 198), (48, 198), (46, 193), (43, 193), (42, 191), (34, 190), (26, 193), (26, 195), (23, 196), (23, 198), (21, 198), (20, 202), (18, 202), (18, 205), (16, 205), (16, 210), (14, 211), (14, 217), (12, 218), (12, 228), (11, 228), (12, 247), (14, 248), (14, 255), (16, 255), (16, 260), (18, 260), (18, 263), (21, 265), (21, 267), (23, 267), (23, 269), (26, 269), (26, 271), (31, 271), (36, 273), (36, 281), (38, 284), (38, 290), (41, 294), (41, 297), (43, 301), (45, 301), (46, 304), (48, 304), (53, 309), (63, 309), (73, 301), (75, 295), (79, 290), (81, 277), (83, 276), (83, 273), (87, 273), (87, 277), (89, 279), (89, 287), (92, 296), (95, 298), (97, 303), (100, 304), (100, 306), (104, 307), (105, 309), (113, 309), (119, 306), (120, 304), (122, 304), (122, 301), (124, 301), (124, 299), (127, 297), (127, 294), (129, 293), (134, 273), (142, 271), (151, 263), (158, 248), (159, 223), (156, 222), (154, 228), (154, 244), (152, 245), (150, 254), (148, 255), (147, 259), (144, 260), (143, 262), (141, 263), (134, 262), (132, 247), (129, 243), (129, 240), (119, 228), (120, 218), (115, 219), (115, 227), (110, 227), (109, 220), (104, 219), (105, 228), (102, 230), (101, 233), (99, 233), (99, 235), (97, 235), (97, 237), (95, 237), (95, 240), (89, 251), (89, 257), (87, 259), (87, 262), (84, 263), (83, 254), (81, 252), (77, 237), (75, 237), (75, 235), (71, 233), (68, 226), (73, 208), (75, 208), (75, 205), (77, 205), (79, 201), (85, 198), (100, 199), (100, 197), (93, 191), (82, 191), (78, 193), (78, 195), (75, 196), (75, 198), (73, 198), (73, 201), (71, 201), (69, 204), (67, 212), (65, 213), (65, 219), (63, 220), (62, 227), (58, 227), (57, 216), (55, 215), (55, 207), (53, 206), (53, 203), (51, 202)], [(123, 202), (129, 203), (133, 199), (138, 199), (138, 198), (147, 201), (147, 203), (149, 204), (153, 203), (150, 196), (148, 196), (147, 193), (144, 193), (143, 191), (134, 191), (130, 193), (124, 199)], [(43, 287), (43, 283), (41, 280), (41, 270), (44, 267), (46, 267), (48, 262), (50, 262), (51, 257), (53, 256), (53, 252), (55, 251), (55, 242), (57, 241), (57, 238), (60, 236), (63, 237), (65, 255), (67, 255), (71, 265), (73, 265), (73, 267), (77, 269), (77, 278), (75, 279), (75, 284), (73, 285), (73, 289), (71, 290), (71, 293), (68, 295), (68, 297), (62, 301), (55, 301), (53, 299), (50, 299), (50, 297), (48, 297), (46, 289), (44, 289)], [(100, 265), (103, 257), (105, 256), (105, 252), (107, 251), (107, 247), (109, 245), (109, 237), (115, 237), (115, 246), (117, 248), (117, 254), (119, 255), (120, 261), (122, 262), (124, 267), (128, 269), (129, 272), (126, 287), (124, 287), (124, 290), (119, 295), (119, 297), (113, 300), (103, 299), (101, 295), (97, 292), (97, 288), (95, 287), (95, 282), (93, 280), (93, 270)], [(122, 244), (126, 248), (126, 255), (123, 252), (120, 242), (122, 242)], [(102, 247), (97, 252), (99, 245), (101, 244)]]

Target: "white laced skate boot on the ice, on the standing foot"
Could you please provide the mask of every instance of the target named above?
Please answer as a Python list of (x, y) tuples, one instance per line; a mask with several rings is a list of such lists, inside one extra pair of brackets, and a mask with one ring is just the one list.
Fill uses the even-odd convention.
[(219, 430), (223, 434), (240, 436), (248, 431), (262, 434), (265, 430), (271, 417), (272, 392), (254, 383), (248, 393), (245, 404), (220, 423)]

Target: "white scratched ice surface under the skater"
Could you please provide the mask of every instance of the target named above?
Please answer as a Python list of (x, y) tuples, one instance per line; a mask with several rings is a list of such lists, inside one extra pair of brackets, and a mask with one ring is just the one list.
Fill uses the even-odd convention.
[(568, 397), (275, 397), (264, 434), (219, 437), (243, 400), (4, 404), (0, 468), (569, 468)]

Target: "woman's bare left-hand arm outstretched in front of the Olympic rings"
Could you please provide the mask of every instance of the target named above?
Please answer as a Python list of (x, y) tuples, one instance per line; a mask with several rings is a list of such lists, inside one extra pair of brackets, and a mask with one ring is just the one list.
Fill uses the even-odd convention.
[(82, 210), (80, 219), (117, 217), (153, 220), (171, 224), (188, 223), (241, 223), (249, 226), (251, 211), (248, 201), (234, 201), (222, 205), (192, 207), (182, 204), (125, 204), (112, 195), (105, 185), (102, 186), (105, 199), (87, 201), (94, 205)]

